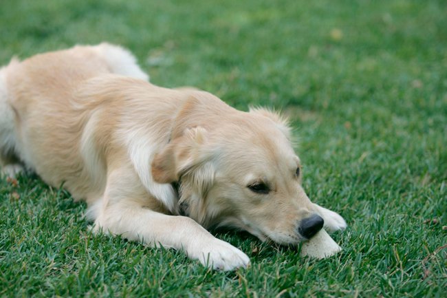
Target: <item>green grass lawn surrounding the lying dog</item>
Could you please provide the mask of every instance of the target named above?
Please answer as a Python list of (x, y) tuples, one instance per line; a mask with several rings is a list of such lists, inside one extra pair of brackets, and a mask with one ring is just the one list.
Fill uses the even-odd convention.
[(3, 0), (1, 65), (110, 41), (157, 85), (282, 109), (309, 197), (349, 227), (323, 261), (217, 233), (252, 266), (214, 272), (91, 235), (85, 204), (39, 178), (0, 180), (0, 297), (446, 297), (446, 16), (442, 0)]

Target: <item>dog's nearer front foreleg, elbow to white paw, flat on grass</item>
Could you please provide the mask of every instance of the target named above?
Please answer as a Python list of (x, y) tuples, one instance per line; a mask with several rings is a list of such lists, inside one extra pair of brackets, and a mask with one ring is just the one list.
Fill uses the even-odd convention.
[(215, 269), (250, 264), (245, 253), (212, 236), (191, 218), (157, 213), (132, 200), (109, 204), (96, 219), (95, 229), (151, 246), (184, 250), (191, 259)]

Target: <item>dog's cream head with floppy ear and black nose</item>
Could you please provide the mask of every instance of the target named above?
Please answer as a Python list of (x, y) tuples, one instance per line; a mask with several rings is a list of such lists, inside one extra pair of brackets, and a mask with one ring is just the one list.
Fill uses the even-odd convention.
[(301, 187), (286, 120), (267, 109), (209, 120), (182, 131), (152, 163), (156, 182), (179, 182), (186, 214), (204, 226), (232, 226), (280, 244), (320, 231), (323, 218)]

